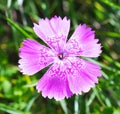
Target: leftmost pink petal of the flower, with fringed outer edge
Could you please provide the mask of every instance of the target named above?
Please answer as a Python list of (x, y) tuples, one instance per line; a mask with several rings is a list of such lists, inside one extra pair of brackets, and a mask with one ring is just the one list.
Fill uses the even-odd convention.
[(19, 51), (19, 68), (23, 74), (33, 75), (54, 60), (53, 52), (49, 48), (31, 39), (25, 40)]

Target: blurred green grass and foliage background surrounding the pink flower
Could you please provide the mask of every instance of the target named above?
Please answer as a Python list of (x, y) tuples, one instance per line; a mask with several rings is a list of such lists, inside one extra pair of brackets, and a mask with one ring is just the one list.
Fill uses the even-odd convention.
[[(88, 93), (57, 102), (43, 98), (35, 85), (46, 69), (32, 77), (18, 69), (18, 49), (26, 38), (39, 38), (33, 22), (58, 15), (96, 30), (103, 53), (89, 59), (103, 77)], [(120, 0), (1, 0), (0, 114), (120, 114)]]

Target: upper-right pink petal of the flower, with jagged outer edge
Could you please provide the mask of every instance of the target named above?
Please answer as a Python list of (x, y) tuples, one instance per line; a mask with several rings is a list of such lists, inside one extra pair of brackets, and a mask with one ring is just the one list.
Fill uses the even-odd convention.
[(86, 25), (79, 25), (70, 40), (67, 42), (67, 50), (71, 50), (71, 55), (98, 57), (101, 53), (101, 45), (95, 39), (94, 31), (86, 28)]

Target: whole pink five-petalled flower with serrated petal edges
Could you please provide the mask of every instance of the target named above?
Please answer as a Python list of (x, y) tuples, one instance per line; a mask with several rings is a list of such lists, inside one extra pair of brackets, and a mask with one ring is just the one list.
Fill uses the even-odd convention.
[(40, 19), (33, 29), (49, 47), (32, 39), (23, 41), (19, 49), (19, 67), (23, 74), (33, 75), (50, 66), (36, 87), (43, 97), (69, 98), (88, 92), (98, 83), (100, 66), (81, 58), (94, 58), (101, 53), (101, 45), (91, 28), (79, 25), (67, 40), (70, 20), (55, 16), (50, 20)]

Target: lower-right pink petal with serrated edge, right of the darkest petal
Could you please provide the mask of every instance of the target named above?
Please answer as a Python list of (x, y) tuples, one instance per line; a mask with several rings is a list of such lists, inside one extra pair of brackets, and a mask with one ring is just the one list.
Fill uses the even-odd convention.
[(77, 57), (72, 57), (70, 61), (72, 67), (67, 70), (70, 90), (73, 94), (88, 92), (98, 83), (98, 77), (101, 76), (100, 67)]

